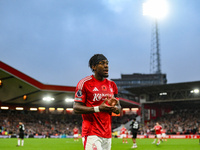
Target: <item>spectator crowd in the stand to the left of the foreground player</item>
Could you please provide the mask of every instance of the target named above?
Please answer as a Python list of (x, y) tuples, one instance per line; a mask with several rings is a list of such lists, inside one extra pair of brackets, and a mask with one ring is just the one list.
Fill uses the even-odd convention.
[(18, 123), (25, 125), (28, 135), (73, 135), (73, 128), (81, 130), (81, 116), (69, 114), (40, 114), (31, 111), (7, 111), (0, 113), (0, 126), (8, 134), (18, 133)]

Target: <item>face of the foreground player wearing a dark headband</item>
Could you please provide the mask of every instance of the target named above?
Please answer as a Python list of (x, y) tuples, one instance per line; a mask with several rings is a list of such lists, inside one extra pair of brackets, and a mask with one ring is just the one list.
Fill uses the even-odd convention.
[(108, 77), (108, 60), (100, 61), (96, 66), (95, 75), (101, 78)]

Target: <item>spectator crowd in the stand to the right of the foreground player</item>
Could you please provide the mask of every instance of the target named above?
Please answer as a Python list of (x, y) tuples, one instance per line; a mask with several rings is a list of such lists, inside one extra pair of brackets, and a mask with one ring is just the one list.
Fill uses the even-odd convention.
[(151, 120), (143, 127), (144, 133), (150, 133), (156, 122), (165, 128), (167, 134), (199, 134), (200, 109), (179, 109), (156, 120)]

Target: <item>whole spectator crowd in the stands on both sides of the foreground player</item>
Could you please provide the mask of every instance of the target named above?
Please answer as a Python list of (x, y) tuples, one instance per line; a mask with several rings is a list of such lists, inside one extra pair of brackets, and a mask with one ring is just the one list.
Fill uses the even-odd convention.
[[(156, 120), (141, 124), (139, 134), (153, 134), (152, 128), (156, 122), (166, 129), (167, 134), (197, 134), (200, 132), (200, 109), (175, 110)], [(133, 119), (133, 115), (113, 117), (112, 129)], [(25, 125), (27, 135), (73, 135), (76, 126), (81, 133), (82, 117), (75, 114), (45, 114), (31, 111), (0, 112), (0, 134), (18, 134), (18, 123)]]

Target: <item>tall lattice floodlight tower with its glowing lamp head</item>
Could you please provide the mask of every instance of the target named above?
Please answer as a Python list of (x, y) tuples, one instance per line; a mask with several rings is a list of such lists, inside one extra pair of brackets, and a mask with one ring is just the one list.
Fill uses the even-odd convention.
[(167, 10), (165, 0), (148, 0), (143, 3), (143, 15), (152, 17), (154, 21), (151, 33), (150, 73), (161, 74), (158, 19), (163, 18)]

